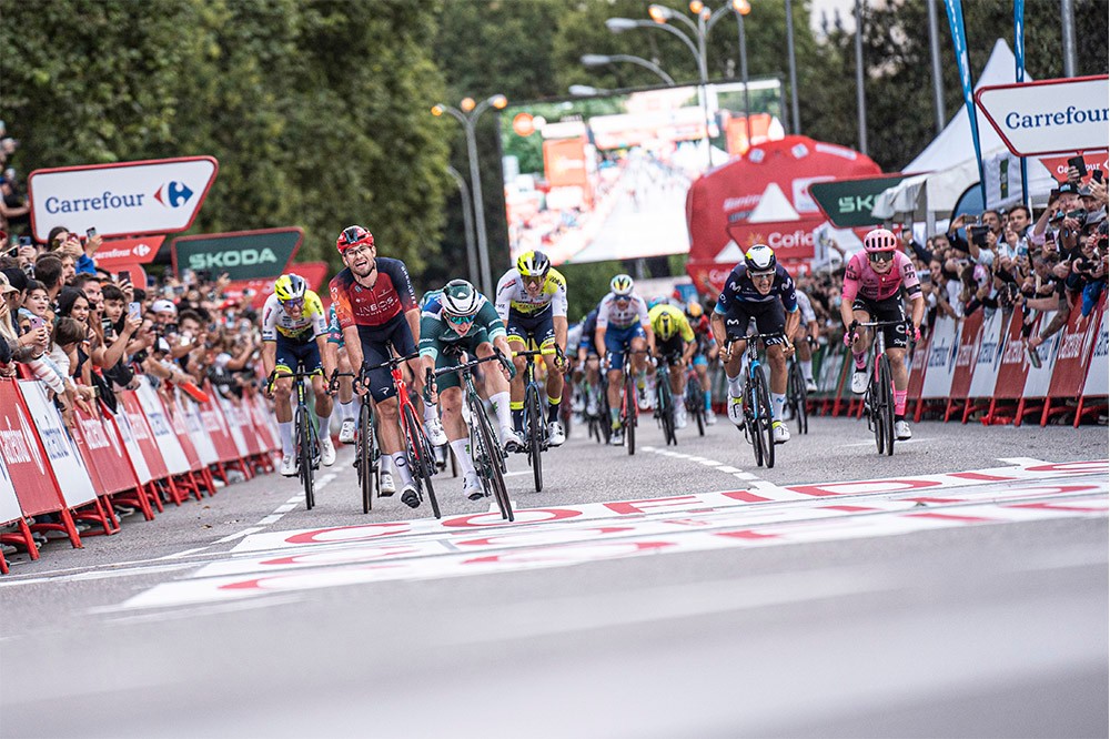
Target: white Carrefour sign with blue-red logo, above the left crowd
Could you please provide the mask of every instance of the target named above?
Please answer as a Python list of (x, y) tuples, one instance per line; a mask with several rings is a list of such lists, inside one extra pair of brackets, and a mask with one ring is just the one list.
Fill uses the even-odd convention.
[(65, 226), (101, 236), (186, 231), (220, 164), (211, 156), (36, 170), (27, 180), (34, 237)]

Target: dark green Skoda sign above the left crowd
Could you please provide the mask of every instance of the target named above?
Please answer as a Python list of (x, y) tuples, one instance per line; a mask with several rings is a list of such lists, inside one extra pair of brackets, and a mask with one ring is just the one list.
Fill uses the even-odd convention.
[(297, 226), (181, 236), (170, 244), (173, 271), (226, 274), (236, 280), (273, 280), (280, 276), (301, 247), (304, 231)]

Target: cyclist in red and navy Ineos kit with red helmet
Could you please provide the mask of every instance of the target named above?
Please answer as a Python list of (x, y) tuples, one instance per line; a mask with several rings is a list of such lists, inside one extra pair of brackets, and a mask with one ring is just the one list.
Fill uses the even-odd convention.
[[(415, 353), (420, 308), (405, 263), (379, 257), (373, 234), (361, 225), (344, 229), (335, 240), (335, 247), (346, 267), (332, 277), (330, 287), (351, 366), (381, 364), (390, 358), (391, 347), (397, 356)], [(416, 373), (420, 389), (423, 386), (420, 358), (410, 361), (408, 368)], [(370, 387), (360, 392), (369, 392), (374, 401), (382, 452), (392, 458), (393, 469), (401, 477), (401, 502), (415, 508), (420, 505), (420, 494), (403, 451), (397, 391), (390, 371), (383, 367), (372, 372)], [(382, 493), (387, 493), (384, 487)]]

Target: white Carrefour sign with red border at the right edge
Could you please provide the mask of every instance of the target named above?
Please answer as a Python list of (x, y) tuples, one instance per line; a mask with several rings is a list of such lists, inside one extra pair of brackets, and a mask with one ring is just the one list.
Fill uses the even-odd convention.
[(980, 88), (976, 103), (1017, 156), (1110, 144), (1107, 75)]

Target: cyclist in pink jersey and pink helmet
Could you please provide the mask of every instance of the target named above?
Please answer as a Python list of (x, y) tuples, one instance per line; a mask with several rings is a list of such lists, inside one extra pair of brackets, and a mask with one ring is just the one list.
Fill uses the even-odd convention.
[(856, 252), (844, 271), (840, 295), (840, 320), (847, 333), (844, 343), (851, 347), (856, 371), (851, 374), (851, 392), (867, 389), (867, 352), (871, 347), (869, 331), (854, 326), (855, 322), (898, 321), (900, 325), (882, 328), (895, 381), (895, 435), (900, 441), (912, 438), (906, 421), (906, 389), (909, 368), (906, 366), (906, 306), (901, 290), (906, 288), (912, 304), (914, 341), (921, 338), (925, 296), (917, 270), (908, 256), (898, 251), (898, 237), (887, 229), (875, 229), (864, 236), (864, 251)]

